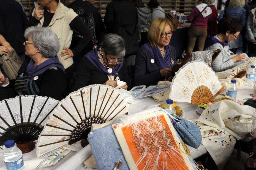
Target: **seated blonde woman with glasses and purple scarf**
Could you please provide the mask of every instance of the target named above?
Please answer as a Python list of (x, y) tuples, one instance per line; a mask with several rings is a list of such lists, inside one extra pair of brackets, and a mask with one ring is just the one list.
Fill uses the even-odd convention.
[(135, 62), (135, 85), (157, 85), (172, 75), (176, 61), (176, 50), (169, 45), (172, 24), (168, 19), (156, 18), (148, 30), (149, 43), (138, 51)]

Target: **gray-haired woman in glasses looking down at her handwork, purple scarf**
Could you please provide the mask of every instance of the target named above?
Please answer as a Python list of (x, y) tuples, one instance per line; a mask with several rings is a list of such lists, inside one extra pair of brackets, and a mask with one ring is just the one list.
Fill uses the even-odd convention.
[(126, 82), (124, 89), (131, 88), (124, 62), (124, 39), (109, 33), (104, 36), (102, 45), (87, 53), (76, 72), (73, 90), (93, 84), (117, 86), (117, 81)]

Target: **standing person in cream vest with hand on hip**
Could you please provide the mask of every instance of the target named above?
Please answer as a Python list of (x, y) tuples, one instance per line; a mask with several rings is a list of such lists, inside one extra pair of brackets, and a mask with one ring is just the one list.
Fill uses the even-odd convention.
[[(82, 49), (92, 39), (92, 32), (81, 18), (59, 0), (37, 0), (36, 8), (29, 20), (30, 26), (48, 27), (57, 34), (60, 42), (58, 57), (65, 68), (67, 83), (73, 75), (73, 56), (81, 53)], [(74, 49), (69, 49), (73, 30), (79, 32), (83, 38)]]

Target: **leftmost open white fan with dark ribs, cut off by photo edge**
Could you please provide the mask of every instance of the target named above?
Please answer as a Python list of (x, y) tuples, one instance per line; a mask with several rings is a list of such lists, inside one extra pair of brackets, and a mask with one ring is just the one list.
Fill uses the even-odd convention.
[[(27, 153), (35, 148), (45, 122), (59, 101), (42, 96), (18, 96), (0, 102), (0, 145), (14, 140)], [(50, 117), (50, 116), (49, 116)]]

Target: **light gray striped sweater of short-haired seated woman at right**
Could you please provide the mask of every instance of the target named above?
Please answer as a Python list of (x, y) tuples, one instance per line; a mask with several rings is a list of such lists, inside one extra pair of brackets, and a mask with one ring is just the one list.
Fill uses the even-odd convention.
[[(220, 40), (217, 35), (215, 35), (214, 38)], [(237, 54), (234, 54), (233, 52), (231, 52), (229, 50), (229, 46), (223, 47), (219, 43), (213, 44), (212, 46), (206, 48), (205, 50), (212, 50), (213, 51), (213, 50), (217, 50), (217, 49), (220, 49), (221, 52), (217, 56), (217, 58), (212, 62), (212, 68), (215, 72), (220, 72), (220, 71), (225, 71), (225, 70), (231, 69), (231, 68), (233, 68), (233, 67), (235, 67), (239, 64), (244, 63), (245, 60), (249, 59), (248, 55), (243, 53), (246, 56), (245, 60), (244, 61), (238, 61), (238, 62), (234, 63), (231, 58), (233, 58)]]

